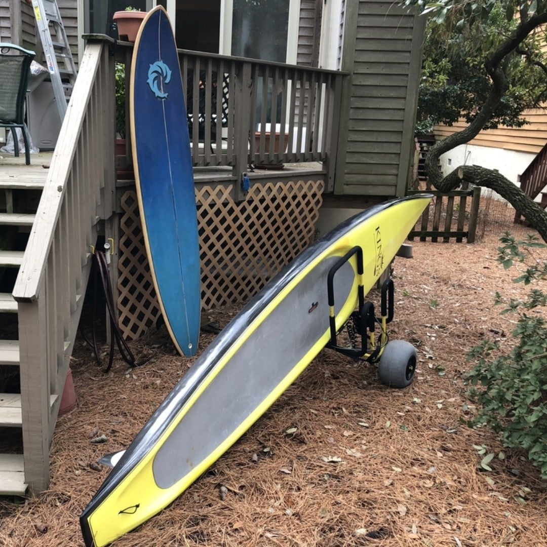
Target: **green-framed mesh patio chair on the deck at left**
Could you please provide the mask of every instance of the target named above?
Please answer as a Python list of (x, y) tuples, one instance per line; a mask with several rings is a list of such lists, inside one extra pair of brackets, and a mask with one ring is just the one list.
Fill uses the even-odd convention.
[(9, 127), (13, 135), (15, 156), (19, 156), (20, 127), (25, 142), (25, 163), (31, 162), (30, 140), (25, 124), (25, 98), (34, 51), (19, 45), (0, 42), (0, 127)]

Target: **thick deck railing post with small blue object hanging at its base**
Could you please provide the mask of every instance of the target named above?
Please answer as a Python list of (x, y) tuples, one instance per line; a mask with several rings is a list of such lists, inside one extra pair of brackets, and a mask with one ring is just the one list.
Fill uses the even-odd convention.
[(234, 199), (237, 203), (245, 200), (241, 188), (242, 173), (247, 171), (249, 156), (249, 126), (251, 125), (251, 63), (243, 62), (236, 69), (234, 101), (234, 153), (235, 162), (232, 168), (234, 181)]

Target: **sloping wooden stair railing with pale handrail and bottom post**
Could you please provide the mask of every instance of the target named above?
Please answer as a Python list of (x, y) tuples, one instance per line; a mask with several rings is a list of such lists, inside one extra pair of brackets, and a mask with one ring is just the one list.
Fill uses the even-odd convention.
[(53, 435), (97, 223), (114, 207), (114, 59), (89, 43), (13, 296), (18, 302), (25, 481), (49, 480)]

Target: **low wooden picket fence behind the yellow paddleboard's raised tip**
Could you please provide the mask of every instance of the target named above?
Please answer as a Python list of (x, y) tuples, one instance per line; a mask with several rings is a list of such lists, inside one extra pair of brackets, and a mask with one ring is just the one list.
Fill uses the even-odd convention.
[(409, 234), (409, 240), (419, 237), (420, 241), (444, 242), (456, 238), (461, 243), (475, 241), (477, 220), (479, 217), (480, 187), (468, 190), (453, 190), (448, 193), (439, 190), (408, 190), (408, 195), (433, 194), (433, 200), (418, 220), (419, 229)]

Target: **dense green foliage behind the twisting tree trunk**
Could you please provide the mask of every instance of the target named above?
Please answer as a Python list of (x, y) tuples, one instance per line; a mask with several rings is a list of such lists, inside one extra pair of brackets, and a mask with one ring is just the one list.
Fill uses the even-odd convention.
[[(517, 26), (515, 18), (505, 16), (507, 2), (490, 4), (484, 18), (466, 16), (456, 22), (446, 16), (441, 22), (429, 19), (418, 96), (418, 135), (430, 132), (434, 125), (450, 126), (462, 118), (470, 123), (490, 95), (492, 82), (486, 62)], [(534, 60), (543, 60), (540, 44), (544, 42), (543, 30), (538, 31), (522, 48), (533, 54)], [(523, 110), (547, 100), (545, 72), (539, 65), (525, 62), (522, 54), (513, 51), (505, 60), (504, 71), (511, 85), (483, 129), (521, 127), (527, 123)]]

